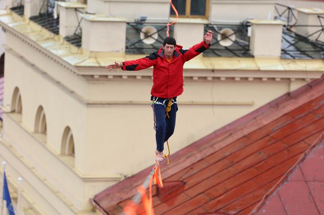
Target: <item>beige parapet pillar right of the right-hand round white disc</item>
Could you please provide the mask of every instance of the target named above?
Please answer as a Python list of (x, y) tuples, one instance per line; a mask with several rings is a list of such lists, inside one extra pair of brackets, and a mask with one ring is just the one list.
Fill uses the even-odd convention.
[(280, 57), (284, 22), (248, 20), (252, 24), (250, 52), (255, 57)]

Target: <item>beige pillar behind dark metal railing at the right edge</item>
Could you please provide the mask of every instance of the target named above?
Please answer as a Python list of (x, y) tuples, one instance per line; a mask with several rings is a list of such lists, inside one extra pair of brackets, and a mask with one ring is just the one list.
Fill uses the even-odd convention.
[[(318, 30), (321, 30), (321, 22), (318, 16), (324, 17), (324, 10), (319, 8), (296, 8), (298, 11), (298, 23), (296, 26), (296, 33), (309, 36), (315, 33)], [(322, 23), (324, 24), (324, 19), (321, 18)], [(299, 25), (313, 25), (313, 26), (299, 26)], [(318, 27), (314, 27), (314, 25), (318, 25)], [(322, 34), (321, 34), (322, 33)], [(321, 36), (319, 36), (321, 34)], [(309, 36), (309, 39), (312, 40), (320, 40), (324, 42), (324, 32), (319, 31), (316, 34)]]

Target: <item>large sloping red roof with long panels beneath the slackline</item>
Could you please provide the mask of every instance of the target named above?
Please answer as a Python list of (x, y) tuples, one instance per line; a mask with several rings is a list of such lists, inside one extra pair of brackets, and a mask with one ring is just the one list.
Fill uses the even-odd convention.
[[(322, 77), (172, 155), (171, 164), (161, 166), (165, 186), (154, 192), (155, 213), (249, 214), (313, 143), (323, 141), (323, 132)], [(150, 169), (107, 188), (92, 202), (108, 214), (121, 212)]]

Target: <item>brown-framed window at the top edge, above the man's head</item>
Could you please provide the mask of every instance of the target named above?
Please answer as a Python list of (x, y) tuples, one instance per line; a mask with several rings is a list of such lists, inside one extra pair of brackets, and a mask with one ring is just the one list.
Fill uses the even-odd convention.
[[(176, 7), (179, 17), (188, 18), (207, 18), (209, 9), (209, 0), (172, 0)], [(170, 7), (170, 15), (176, 16), (176, 13)]]

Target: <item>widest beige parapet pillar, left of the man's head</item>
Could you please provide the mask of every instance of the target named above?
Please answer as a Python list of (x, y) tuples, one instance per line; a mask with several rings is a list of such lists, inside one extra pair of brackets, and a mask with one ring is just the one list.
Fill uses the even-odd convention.
[(82, 18), (82, 48), (90, 52), (125, 52), (125, 19), (86, 14)]

